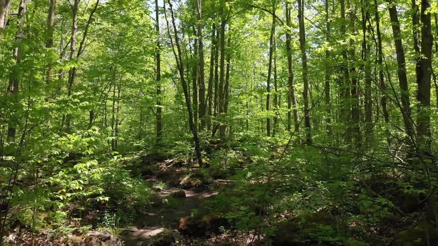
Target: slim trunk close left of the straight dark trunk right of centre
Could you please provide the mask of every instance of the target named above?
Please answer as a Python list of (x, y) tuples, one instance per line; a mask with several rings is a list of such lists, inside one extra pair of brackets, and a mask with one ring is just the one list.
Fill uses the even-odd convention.
[[(287, 131), (291, 131), (292, 125), (292, 111), (294, 113), (294, 131), (300, 133), (300, 118), (298, 115), (298, 102), (296, 102), (295, 86), (294, 86), (294, 70), (292, 68), (292, 24), (291, 24), (291, 13), (289, 9), (289, 1), (286, 0), (285, 10), (286, 10), (286, 25), (288, 29), (286, 30), (286, 54), (287, 54), (287, 85), (288, 85), (288, 97), (287, 97)], [(293, 109), (292, 109), (293, 107)], [(292, 109), (292, 111), (291, 111)]]

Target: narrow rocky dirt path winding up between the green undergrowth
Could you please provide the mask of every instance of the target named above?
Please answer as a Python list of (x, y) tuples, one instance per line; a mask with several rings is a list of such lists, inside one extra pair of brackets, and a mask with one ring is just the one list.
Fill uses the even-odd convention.
[[(147, 245), (150, 238), (164, 232), (165, 229), (177, 230), (179, 219), (201, 210), (203, 202), (218, 193), (207, 187), (181, 189), (179, 181), (188, 174), (188, 169), (175, 167), (166, 160), (153, 164), (152, 174), (144, 176), (151, 186), (157, 182), (169, 184), (167, 189), (156, 189), (145, 217), (139, 217), (129, 226), (120, 238), (126, 246)], [(185, 193), (185, 195), (184, 195)]]

